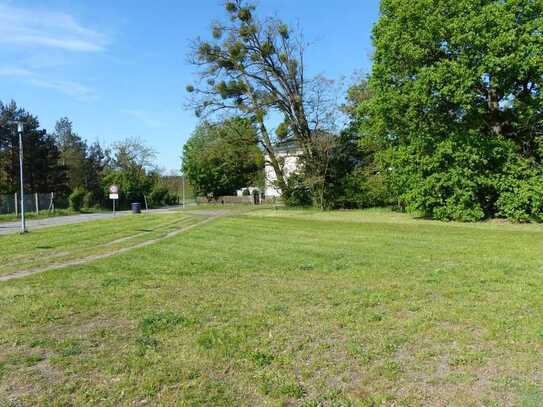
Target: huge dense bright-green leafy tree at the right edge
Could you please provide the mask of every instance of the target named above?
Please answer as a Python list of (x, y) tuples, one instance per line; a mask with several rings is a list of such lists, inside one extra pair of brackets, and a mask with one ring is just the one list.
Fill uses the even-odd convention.
[(437, 219), (542, 219), (542, 11), (382, 1), (357, 120), (389, 203)]

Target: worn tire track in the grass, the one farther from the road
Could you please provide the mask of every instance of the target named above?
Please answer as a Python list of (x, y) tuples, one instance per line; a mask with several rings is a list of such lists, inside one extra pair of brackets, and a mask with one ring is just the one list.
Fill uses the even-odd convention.
[(51, 271), (51, 270), (63, 269), (63, 268), (70, 267), (70, 266), (79, 266), (79, 265), (82, 265), (82, 264), (85, 264), (85, 263), (88, 263), (88, 262), (91, 262), (91, 261), (101, 260), (101, 259), (105, 259), (105, 258), (108, 258), (108, 257), (115, 256), (117, 254), (125, 253), (125, 252), (128, 252), (128, 251), (133, 250), (133, 249), (140, 249), (140, 248), (143, 248), (143, 247), (158, 243), (158, 242), (160, 242), (162, 240), (169, 239), (169, 238), (174, 237), (174, 236), (176, 236), (176, 235), (178, 235), (180, 233), (187, 232), (187, 231), (189, 231), (191, 229), (194, 229), (195, 227), (204, 225), (204, 224), (212, 221), (213, 219), (220, 218), (222, 216), (224, 216), (224, 215), (206, 217), (204, 220), (202, 220), (200, 222), (194, 223), (194, 224), (189, 225), (189, 226), (182, 227), (181, 229), (177, 229), (177, 230), (168, 232), (168, 233), (166, 233), (166, 234), (164, 234), (164, 235), (162, 235), (162, 236), (160, 236), (158, 238), (153, 238), (153, 239), (150, 239), (150, 240), (144, 240), (143, 242), (136, 243), (136, 244), (134, 244), (132, 246), (128, 246), (128, 247), (123, 247), (121, 249), (117, 249), (117, 250), (114, 250), (112, 252), (94, 254), (94, 255), (91, 255), (91, 256), (86, 256), (86, 257), (82, 257), (82, 258), (79, 258), (79, 259), (74, 259), (74, 260), (71, 260), (71, 261), (67, 261), (65, 263), (52, 264), (50, 266), (46, 266), (46, 267), (43, 267), (43, 268), (32, 268), (32, 269), (27, 269), (27, 270), (16, 271), (16, 272), (13, 272), (13, 273), (10, 273), (10, 274), (5, 274), (5, 275), (0, 276), (0, 282), (1, 281), (15, 280), (15, 279), (27, 277), (27, 276), (30, 276), (30, 275), (33, 275), (33, 274), (43, 273), (43, 272)]

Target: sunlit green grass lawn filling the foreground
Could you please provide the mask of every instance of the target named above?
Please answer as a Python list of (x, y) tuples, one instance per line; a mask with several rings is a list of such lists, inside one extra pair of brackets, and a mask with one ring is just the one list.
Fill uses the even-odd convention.
[[(107, 222), (0, 237), (2, 261)], [(383, 210), (215, 219), (0, 282), (0, 405), (540, 406), (542, 249)]]

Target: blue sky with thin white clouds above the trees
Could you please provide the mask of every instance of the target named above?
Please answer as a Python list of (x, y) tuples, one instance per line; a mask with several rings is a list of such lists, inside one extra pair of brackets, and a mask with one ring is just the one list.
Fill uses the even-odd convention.
[[(260, 15), (299, 23), (312, 43), (308, 71), (338, 81), (369, 71), (378, 3), (256, 2)], [(90, 142), (140, 137), (160, 167), (178, 170), (197, 124), (184, 108), (190, 41), (223, 16), (221, 0), (0, 0), (0, 100), (48, 130), (68, 116)]]

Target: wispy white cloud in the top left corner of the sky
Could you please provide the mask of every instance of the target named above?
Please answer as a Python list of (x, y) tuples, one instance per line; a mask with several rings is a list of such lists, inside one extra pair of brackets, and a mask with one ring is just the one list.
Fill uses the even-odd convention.
[(99, 52), (107, 45), (106, 36), (83, 27), (69, 14), (0, 3), (0, 46)]

